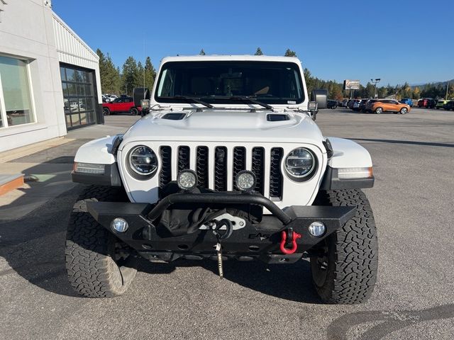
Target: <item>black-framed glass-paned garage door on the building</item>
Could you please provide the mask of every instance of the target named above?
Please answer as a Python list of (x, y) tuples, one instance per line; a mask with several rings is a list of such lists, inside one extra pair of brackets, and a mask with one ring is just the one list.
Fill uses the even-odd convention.
[(60, 66), (63, 101), (68, 129), (95, 123), (94, 74), (92, 71)]

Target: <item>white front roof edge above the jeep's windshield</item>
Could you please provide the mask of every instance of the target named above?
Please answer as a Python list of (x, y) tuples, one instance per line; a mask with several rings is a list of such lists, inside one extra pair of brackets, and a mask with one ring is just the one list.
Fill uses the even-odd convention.
[(260, 61), (260, 62), (299, 62), (297, 57), (279, 57), (273, 55), (182, 55), (162, 58), (165, 62), (199, 62), (206, 61)]

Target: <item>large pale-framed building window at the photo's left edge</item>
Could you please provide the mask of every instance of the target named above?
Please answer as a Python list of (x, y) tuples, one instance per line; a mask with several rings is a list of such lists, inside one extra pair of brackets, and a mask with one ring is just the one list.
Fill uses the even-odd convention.
[(0, 128), (28, 123), (35, 118), (27, 62), (0, 55)]

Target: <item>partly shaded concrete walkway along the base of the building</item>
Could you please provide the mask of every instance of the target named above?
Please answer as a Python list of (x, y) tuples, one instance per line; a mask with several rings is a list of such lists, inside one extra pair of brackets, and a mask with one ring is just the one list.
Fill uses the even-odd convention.
[[(65, 137), (0, 154), (0, 174), (24, 174), (26, 183), (0, 196), (0, 220), (18, 220), (76, 187), (70, 172), (77, 149), (89, 140), (125, 132), (138, 118), (114, 116), (107, 125), (92, 125)], [(114, 125), (109, 125), (109, 120)]]

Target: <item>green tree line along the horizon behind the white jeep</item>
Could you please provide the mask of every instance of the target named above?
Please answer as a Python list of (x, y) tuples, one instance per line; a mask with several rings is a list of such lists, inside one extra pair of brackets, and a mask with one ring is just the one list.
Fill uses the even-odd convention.
[[(145, 64), (136, 62), (134, 57), (128, 57), (123, 66), (116, 67), (109, 54), (104, 54), (101, 50), (96, 50), (99, 56), (99, 72), (101, 74), (101, 89), (104, 94), (127, 94), (131, 96), (135, 87), (143, 87), (145, 75), (145, 87), (153, 89), (156, 70), (153, 67), (150, 57), (146, 57)], [(199, 55), (206, 55), (202, 48)], [(255, 51), (255, 55), (263, 55), (260, 47)], [(297, 53), (287, 48), (285, 57), (297, 57)], [(313, 89), (326, 89), (328, 97), (341, 100), (350, 98), (350, 90), (343, 90), (343, 84), (334, 80), (323, 80), (314, 77), (309, 69), (304, 69), (304, 78), (310, 94)], [(445, 98), (446, 84), (425, 84), (422, 86), (410, 86), (408, 83), (397, 86), (377, 86), (367, 82), (366, 86), (360, 85), (359, 90), (353, 91), (354, 98), (373, 98), (377, 94), (378, 98), (395, 96), (401, 98)], [(450, 83), (448, 98), (454, 98), (454, 81)]]

